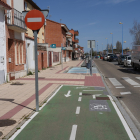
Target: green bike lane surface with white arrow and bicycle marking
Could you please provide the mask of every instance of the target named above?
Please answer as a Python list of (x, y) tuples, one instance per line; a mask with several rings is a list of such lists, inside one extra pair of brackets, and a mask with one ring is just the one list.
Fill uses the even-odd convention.
[(107, 94), (106, 88), (62, 86), (14, 139), (135, 139)]

